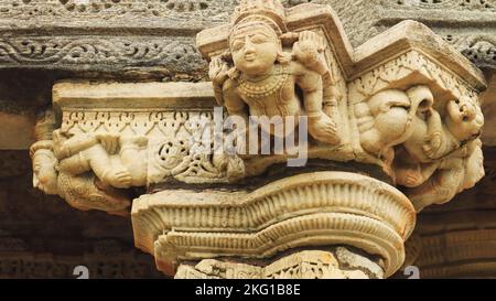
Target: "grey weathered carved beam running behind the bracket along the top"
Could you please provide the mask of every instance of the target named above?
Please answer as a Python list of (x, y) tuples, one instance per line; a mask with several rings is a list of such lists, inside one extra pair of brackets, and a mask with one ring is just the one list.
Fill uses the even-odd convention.
[[(495, 34), (487, 31), (496, 14), (490, 0), (484, 3), (284, 1), (288, 7), (302, 2), (333, 6), (354, 46), (401, 20), (411, 19), (433, 28), (478, 66), (495, 65)], [(181, 73), (198, 78), (206, 75), (206, 65), (194, 47), (194, 35), (227, 21), (236, 3), (235, 0), (2, 0), (0, 67), (104, 73), (155, 71), (163, 76)], [(454, 21), (456, 29), (446, 28)]]

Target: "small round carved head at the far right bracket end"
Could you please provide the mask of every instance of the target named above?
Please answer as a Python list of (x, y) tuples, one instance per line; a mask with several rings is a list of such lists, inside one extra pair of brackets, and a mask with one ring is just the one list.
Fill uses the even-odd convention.
[(484, 116), (472, 99), (462, 97), (448, 103), (446, 112), (446, 126), (459, 141), (466, 141), (481, 135)]

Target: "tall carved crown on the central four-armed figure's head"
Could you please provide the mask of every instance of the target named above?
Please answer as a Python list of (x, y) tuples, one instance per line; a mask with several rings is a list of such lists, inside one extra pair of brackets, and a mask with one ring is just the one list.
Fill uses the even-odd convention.
[(285, 11), (280, 0), (241, 0), (234, 11), (231, 28), (256, 21), (269, 24), (278, 35), (287, 32)]

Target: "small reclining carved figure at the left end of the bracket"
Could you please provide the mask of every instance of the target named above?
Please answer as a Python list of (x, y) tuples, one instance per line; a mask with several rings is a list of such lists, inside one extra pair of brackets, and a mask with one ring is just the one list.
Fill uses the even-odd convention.
[(47, 110), (36, 127), (40, 141), (31, 147), (34, 187), (46, 194), (60, 195), (71, 206), (82, 211), (99, 209), (115, 215), (129, 215), (131, 201), (127, 192), (112, 187), (91, 173), (91, 164), (101, 163), (97, 169), (105, 175), (104, 179), (117, 181), (115, 183), (119, 185), (128, 181), (129, 175), (122, 170), (115, 173), (107, 170), (110, 165), (109, 155), (103, 153), (104, 147), (98, 144), (99, 141), (106, 141), (109, 143), (106, 148), (111, 150), (115, 148), (115, 137), (90, 136), (87, 139), (65, 140), (57, 132), (57, 142), (54, 142), (54, 128), (55, 118)]

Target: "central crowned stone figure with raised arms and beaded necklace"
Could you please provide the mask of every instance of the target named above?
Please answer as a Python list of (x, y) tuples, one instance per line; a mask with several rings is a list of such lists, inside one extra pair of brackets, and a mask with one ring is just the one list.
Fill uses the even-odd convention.
[[(324, 98), (336, 95), (317, 33), (284, 33), (284, 9), (279, 1), (241, 1), (229, 33), (229, 51), (212, 60), (209, 75), (216, 99), (231, 116), (294, 118), (308, 116), (310, 135), (338, 144), (336, 123), (323, 110)], [(292, 41), (292, 53), (283, 41)], [(298, 42), (296, 42), (298, 41)], [(295, 42), (295, 43), (294, 43)], [(284, 127), (285, 127), (284, 122)], [(271, 128), (262, 128), (276, 135)]]

